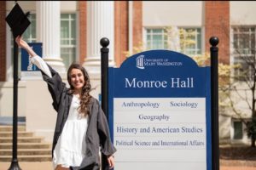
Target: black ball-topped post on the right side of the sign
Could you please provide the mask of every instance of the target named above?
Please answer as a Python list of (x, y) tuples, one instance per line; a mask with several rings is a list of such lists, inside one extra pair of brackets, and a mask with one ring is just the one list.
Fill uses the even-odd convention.
[(219, 170), (218, 146), (218, 37), (211, 37), (212, 170)]

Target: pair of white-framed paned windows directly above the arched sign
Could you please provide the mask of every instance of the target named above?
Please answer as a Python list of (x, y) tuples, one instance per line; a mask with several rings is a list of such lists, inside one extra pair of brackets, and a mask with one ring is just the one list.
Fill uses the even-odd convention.
[[(147, 28), (146, 45), (147, 49), (169, 49), (170, 41), (168, 28)], [(178, 28), (179, 52), (194, 56), (201, 54), (201, 28)]]

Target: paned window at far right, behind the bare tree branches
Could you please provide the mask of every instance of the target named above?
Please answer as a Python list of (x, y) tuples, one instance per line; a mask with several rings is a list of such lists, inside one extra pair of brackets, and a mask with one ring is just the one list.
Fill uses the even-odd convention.
[(234, 64), (240, 67), (234, 70), (236, 80), (253, 80), (253, 67), (255, 65), (255, 26), (233, 27)]

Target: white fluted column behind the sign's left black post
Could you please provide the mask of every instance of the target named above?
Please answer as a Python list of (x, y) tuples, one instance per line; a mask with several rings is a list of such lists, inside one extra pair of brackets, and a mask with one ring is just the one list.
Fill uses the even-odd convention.
[(84, 67), (90, 74), (101, 73), (101, 44), (102, 37), (109, 39), (108, 65), (114, 65), (114, 13), (113, 1), (87, 2), (87, 56)]

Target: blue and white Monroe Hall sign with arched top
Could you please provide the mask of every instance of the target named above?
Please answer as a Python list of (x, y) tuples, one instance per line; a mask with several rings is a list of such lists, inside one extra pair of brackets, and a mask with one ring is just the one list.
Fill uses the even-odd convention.
[(151, 50), (108, 75), (115, 169), (212, 169), (210, 67)]

